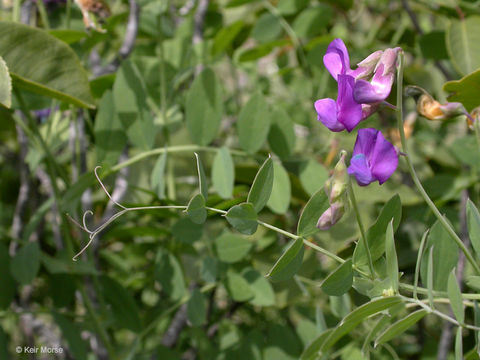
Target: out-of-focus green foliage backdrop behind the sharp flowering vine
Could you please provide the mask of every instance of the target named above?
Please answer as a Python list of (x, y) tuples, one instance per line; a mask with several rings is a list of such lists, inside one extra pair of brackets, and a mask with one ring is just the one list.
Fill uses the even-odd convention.
[[(125, 206), (186, 205), (198, 193), (194, 152), (207, 177), (207, 206), (228, 210), (246, 201), (271, 155), (273, 190), (259, 216), (295, 233), (301, 209), (323, 188), (339, 151), (351, 151), (355, 140), (316, 120), (313, 102), (337, 93), (322, 61), (328, 44), (342, 38), (352, 64), (400, 46), (407, 85), (440, 102), (456, 92), (472, 110), (480, 105), (479, 2), (108, 5), (101, 32), (85, 29), (71, 0), (1, 3), (0, 56), (13, 96), (11, 109), (0, 107), (0, 358), (29, 358), (15, 354), (16, 346), (27, 345), (62, 346), (55, 359), (299, 358), (369, 299), (358, 284), (342, 296), (327, 295), (319, 285), (337, 267), (327, 257), (306, 247), (296, 275), (271, 281), (264, 276), (288, 238), (264, 227), (242, 235), (211, 212), (196, 224), (181, 210), (155, 210), (118, 218), (73, 262), (88, 236), (66, 214), (81, 219), (92, 210), (86, 222), (94, 227), (120, 210), (95, 180), (97, 165)], [(450, 83), (443, 90), (471, 73), (468, 86)], [(430, 122), (417, 116), (412, 99), (405, 106), (410, 156), (428, 194), (462, 233), (466, 198), (479, 200), (476, 138), (462, 118)], [(384, 129), (399, 145), (388, 108), (361, 127)], [(396, 249), (402, 281), (412, 283), (420, 239), (434, 217), (405, 164), (384, 185), (356, 192), (367, 227), (399, 196)], [(358, 238), (348, 212), (309, 241), (347, 259)], [(451, 255), (456, 247), (442, 249), (434, 261), (453, 259), (447, 274), (463, 266)], [(362, 355), (374, 324), (365, 321), (325, 358), (453, 356), (451, 335), (441, 348), (451, 327), (434, 316), (390, 344), (367, 343)], [(464, 335), (465, 354), (478, 358), (476, 335)]]

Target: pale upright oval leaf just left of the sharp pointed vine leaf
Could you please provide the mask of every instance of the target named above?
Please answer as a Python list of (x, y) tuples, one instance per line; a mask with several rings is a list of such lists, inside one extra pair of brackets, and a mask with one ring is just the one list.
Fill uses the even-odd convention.
[(232, 197), (235, 182), (235, 166), (230, 151), (226, 147), (218, 149), (213, 159), (212, 183), (213, 187), (224, 199)]

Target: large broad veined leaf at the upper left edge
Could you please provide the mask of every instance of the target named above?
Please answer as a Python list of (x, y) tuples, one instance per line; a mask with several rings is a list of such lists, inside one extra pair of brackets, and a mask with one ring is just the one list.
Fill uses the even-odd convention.
[(13, 86), (93, 108), (87, 74), (75, 52), (44, 30), (0, 22), (0, 56)]

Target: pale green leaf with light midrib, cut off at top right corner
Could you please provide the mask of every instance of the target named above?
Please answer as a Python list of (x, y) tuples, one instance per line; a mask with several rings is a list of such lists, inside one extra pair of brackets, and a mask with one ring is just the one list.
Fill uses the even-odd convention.
[(461, 74), (480, 67), (480, 17), (451, 20), (447, 27), (447, 50), (453, 66)]

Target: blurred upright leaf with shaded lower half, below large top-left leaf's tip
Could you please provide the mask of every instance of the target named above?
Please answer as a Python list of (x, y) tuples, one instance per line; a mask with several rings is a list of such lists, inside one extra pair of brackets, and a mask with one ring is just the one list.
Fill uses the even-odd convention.
[(127, 136), (115, 112), (112, 92), (105, 92), (95, 118), (95, 150), (97, 163), (114, 165), (127, 144)]

